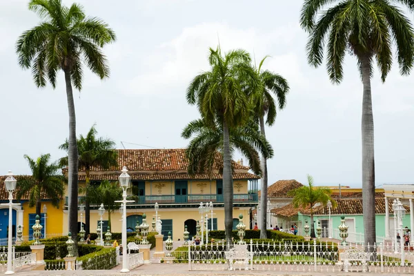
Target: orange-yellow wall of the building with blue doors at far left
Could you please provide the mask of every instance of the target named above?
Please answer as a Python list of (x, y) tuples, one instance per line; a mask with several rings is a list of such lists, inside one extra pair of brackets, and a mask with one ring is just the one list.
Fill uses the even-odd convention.
[[(48, 234), (63, 234), (63, 204), (60, 202), (59, 208), (52, 206), (50, 201), (42, 201), (41, 213), (43, 213), (43, 205), (46, 204), (47, 215), (46, 215), (46, 237)], [(23, 236), (29, 235), (29, 214), (36, 213), (36, 207), (29, 207), (28, 202), (23, 203)]]

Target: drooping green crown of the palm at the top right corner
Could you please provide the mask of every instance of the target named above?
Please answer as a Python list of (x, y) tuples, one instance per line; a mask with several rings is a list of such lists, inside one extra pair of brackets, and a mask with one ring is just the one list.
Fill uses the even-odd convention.
[[(333, 2), (337, 5), (332, 6)], [(322, 11), (328, 3), (332, 7)], [(413, 66), (413, 27), (393, 3), (402, 3), (414, 10), (412, 0), (306, 0), (300, 23), (310, 32), (306, 46), (309, 63), (321, 65), (326, 46), (328, 75), (333, 82), (339, 83), (348, 51), (357, 57), (360, 71), (362, 59), (368, 59), (371, 75), (375, 59), (382, 81), (385, 81), (393, 63), (392, 44), (395, 42), (400, 71), (402, 75), (408, 74)], [(320, 14), (319, 18), (316, 18), (317, 14)]]

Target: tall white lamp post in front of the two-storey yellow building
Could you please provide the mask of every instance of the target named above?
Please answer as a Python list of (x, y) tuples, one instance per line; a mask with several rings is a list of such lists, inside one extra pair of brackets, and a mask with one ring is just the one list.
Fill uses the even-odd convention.
[(129, 272), (128, 269), (128, 255), (126, 255), (126, 204), (128, 202), (135, 202), (134, 200), (126, 200), (126, 189), (130, 184), (130, 176), (128, 175), (128, 170), (126, 166), (122, 167), (122, 173), (118, 177), (119, 186), (122, 188), (122, 200), (117, 200), (115, 202), (122, 204), (122, 273)]

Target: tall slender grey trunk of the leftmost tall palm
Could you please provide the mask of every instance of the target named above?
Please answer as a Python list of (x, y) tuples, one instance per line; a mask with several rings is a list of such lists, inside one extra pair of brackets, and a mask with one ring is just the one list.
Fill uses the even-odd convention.
[(76, 141), (76, 116), (75, 103), (73, 101), (72, 83), (70, 79), (70, 71), (64, 70), (66, 81), (66, 97), (68, 98), (69, 111), (69, 150), (68, 150), (68, 193), (69, 193), (69, 207), (68, 207), (68, 228), (75, 240), (75, 248), (73, 253), (77, 256), (77, 206), (78, 206), (78, 150)]

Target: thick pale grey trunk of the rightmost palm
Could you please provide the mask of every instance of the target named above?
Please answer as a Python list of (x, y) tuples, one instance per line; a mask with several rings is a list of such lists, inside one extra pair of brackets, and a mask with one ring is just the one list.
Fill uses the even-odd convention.
[(364, 242), (374, 244), (375, 239), (375, 164), (374, 119), (371, 99), (371, 68), (368, 55), (359, 58), (362, 67), (362, 208), (364, 210)]

